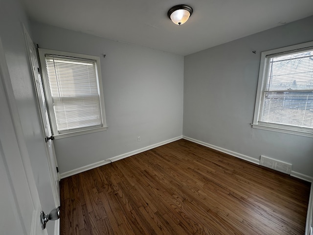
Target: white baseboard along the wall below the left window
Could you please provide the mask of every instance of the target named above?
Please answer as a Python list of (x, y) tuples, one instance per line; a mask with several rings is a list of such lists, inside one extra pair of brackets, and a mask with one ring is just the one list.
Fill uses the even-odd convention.
[(124, 154), (121, 154), (121, 155), (118, 155), (118, 156), (115, 156), (115, 157), (112, 157), (112, 158), (109, 158), (109, 159), (105, 159), (105, 160), (99, 161), (97, 163), (93, 163), (93, 164), (85, 165), (85, 166), (82, 166), (82, 167), (79, 167), (79, 168), (76, 168), (76, 169), (73, 169), (73, 170), (69, 170), (67, 172), (61, 173), (60, 174), (60, 178), (64, 179), (66, 177), (69, 177), (69, 176), (72, 176), (72, 175), (76, 175), (76, 174), (84, 172), (86, 170), (90, 170), (90, 169), (93, 169), (93, 168), (96, 168), (96, 167), (99, 167), (99, 166), (102, 166), (102, 165), (105, 165), (105, 164), (109, 164), (109, 163), (112, 163), (112, 162), (115, 162), (115, 161), (118, 161), (118, 160), (121, 160), (121, 159), (124, 159), (124, 158), (128, 158), (128, 157), (133, 156), (135, 154), (142, 153), (144, 151), (147, 151), (147, 150), (150, 150), (150, 149), (162, 146), (164, 144), (167, 144), (167, 143), (170, 143), (170, 142), (173, 142), (173, 141), (178, 141), (181, 138), (182, 138), (182, 136), (178, 136), (176, 138), (173, 138), (173, 139), (170, 139), (170, 140), (167, 140), (167, 141), (162, 141), (162, 142), (159, 142), (159, 143), (155, 143), (155, 144), (149, 145), (149, 146), (144, 147), (144, 148), (140, 148), (140, 149), (128, 152), (128, 153), (124, 153)]

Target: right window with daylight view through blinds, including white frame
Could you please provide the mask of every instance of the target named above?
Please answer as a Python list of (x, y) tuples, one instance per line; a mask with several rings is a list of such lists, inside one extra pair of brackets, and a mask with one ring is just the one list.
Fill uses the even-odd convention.
[(313, 42), (262, 52), (252, 126), (313, 137)]

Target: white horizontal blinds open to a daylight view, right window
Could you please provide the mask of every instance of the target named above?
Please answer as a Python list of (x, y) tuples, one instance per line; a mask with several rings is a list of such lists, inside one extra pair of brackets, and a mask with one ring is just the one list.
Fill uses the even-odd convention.
[(259, 123), (313, 129), (313, 48), (266, 60)]

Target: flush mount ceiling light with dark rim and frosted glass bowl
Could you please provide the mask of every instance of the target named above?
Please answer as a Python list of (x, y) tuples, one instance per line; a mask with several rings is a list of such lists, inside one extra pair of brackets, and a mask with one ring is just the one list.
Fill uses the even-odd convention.
[(167, 16), (174, 24), (184, 24), (191, 16), (193, 9), (187, 5), (173, 6), (168, 10)]

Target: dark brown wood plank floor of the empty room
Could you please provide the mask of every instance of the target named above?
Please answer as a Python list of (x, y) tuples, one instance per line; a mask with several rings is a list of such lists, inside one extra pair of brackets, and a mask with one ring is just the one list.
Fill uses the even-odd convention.
[(304, 235), (310, 187), (179, 140), (61, 180), (61, 235)]

